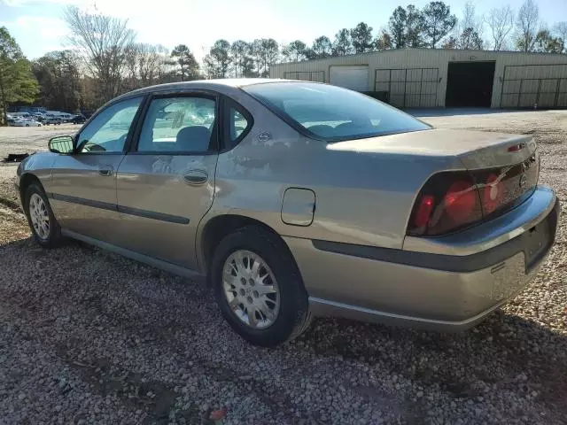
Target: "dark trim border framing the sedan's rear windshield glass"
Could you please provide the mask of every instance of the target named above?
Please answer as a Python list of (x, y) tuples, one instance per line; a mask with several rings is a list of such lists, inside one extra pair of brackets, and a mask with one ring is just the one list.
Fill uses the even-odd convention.
[[(251, 86), (253, 87), (253, 86), (263, 85), (263, 84), (297, 84), (298, 82), (304, 83), (304, 84), (328, 85), (326, 83), (317, 82), (317, 81), (269, 81), (269, 82), (260, 82), (258, 84), (252, 84)], [(334, 136), (334, 137), (323, 137), (321, 135), (315, 135), (315, 133), (313, 133), (312, 131), (309, 131), (307, 128), (303, 127), (301, 124), (299, 124), (298, 121), (293, 120), (289, 114), (281, 111), (275, 104), (272, 104), (271, 102), (268, 102), (267, 100), (264, 100), (260, 97), (256, 97), (252, 93), (248, 92), (245, 87), (244, 88), (241, 87), (240, 89), (243, 92), (245, 92), (246, 95), (248, 95), (249, 97), (252, 97), (252, 99), (254, 99), (256, 102), (258, 102), (261, 105), (263, 105), (264, 107), (266, 107), (268, 109), (268, 111), (272, 112), (274, 115), (276, 115), (277, 118), (279, 118), (280, 120), (283, 120), (283, 122), (285, 122), (288, 126), (293, 128), (295, 131), (297, 131), (300, 135), (304, 135), (304, 136), (306, 136), (310, 139), (318, 140), (318, 141), (321, 141), (321, 142), (324, 142), (324, 143), (336, 143), (336, 142), (345, 142), (347, 140), (369, 139), (371, 137), (382, 137), (383, 135), (402, 135), (404, 133), (414, 133), (416, 131), (426, 131), (426, 130), (431, 130), (433, 128), (430, 124), (427, 124), (426, 122), (424, 122), (422, 120), (418, 120), (416, 117), (409, 115), (408, 112), (400, 111), (400, 109), (393, 107), (391, 104), (384, 104), (384, 102), (381, 102), (381, 101), (375, 99), (374, 97), (369, 97), (369, 96), (365, 95), (364, 93), (357, 91), (357, 93), (361, 96), (368, 97), (369, 99), (372, 99), (376, 102), (384, 104), (385, 107), (393, 109), (396, 112), (400, 112), (402, 114), (408, 115), (409, 117), (413, 118), (414, 120), (421, 122), (427, 128), (419, 128), (419, 129), (415, 129), (415, 130), (405, 130), (405, 131), (387, 131), (387, 132), (384, 132), (384, 133), (380, 133), (378, 135), (349, 135), (349, 136), (338, 135), (338, 136)]]

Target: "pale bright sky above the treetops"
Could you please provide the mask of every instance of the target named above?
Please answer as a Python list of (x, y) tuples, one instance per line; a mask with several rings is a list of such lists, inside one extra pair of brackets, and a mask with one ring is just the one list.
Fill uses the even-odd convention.
[[(446, 0), (457, 17), (466, 0)], [(429, 0), (404, 2), (417, 7)], [(523, 0), (477, 0), (477, 13), (509, 4), (517, 11)], [(536, 0), (540, 19), (552, 26), (567, 20), (567, 0)], [(96, 4), (105, 14), (129, 19), (140, 42), (171, 49), (189, 45), (197, 58), (219, 38), (229, 41), (272, 37), (285, 43), (300, 39), (310, 43), (319, 35), (331, 39), (342, 27), (364, 21), (375, 32), (385, 27), (396, 0), (0, 0), (0, 26), (8, 28), (28, 58), (66, 47), (63, 9), (77, 4), (89, 9)]]

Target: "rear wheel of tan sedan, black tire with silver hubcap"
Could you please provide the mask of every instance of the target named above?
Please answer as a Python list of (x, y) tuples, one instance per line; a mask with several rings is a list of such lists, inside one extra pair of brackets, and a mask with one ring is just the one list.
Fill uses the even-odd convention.
[(225, 320), (252, 344), (276, 346), (307, 328), (307, 291), (279, 236), (257, 226), (226, 236), (214, 251), (211, 282)]

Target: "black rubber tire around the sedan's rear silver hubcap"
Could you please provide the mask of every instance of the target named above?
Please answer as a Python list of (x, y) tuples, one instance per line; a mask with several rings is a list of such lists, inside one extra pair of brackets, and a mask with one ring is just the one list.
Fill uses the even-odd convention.
[[(238, 250), (260, 255), (275, 274), (280, 308), (276, 320), (268, 328), (251, 328), (238, 319), (224, 295), (222, 268), (229, 255)], [(299, 336), (307, 328), (310, 319), (307, 291), (295, 260), (279, 236), (258, 226), (239, 228), (225, 236), (214, 251), (210, 277), (222, 316), (249, 343), (273, 347)]]

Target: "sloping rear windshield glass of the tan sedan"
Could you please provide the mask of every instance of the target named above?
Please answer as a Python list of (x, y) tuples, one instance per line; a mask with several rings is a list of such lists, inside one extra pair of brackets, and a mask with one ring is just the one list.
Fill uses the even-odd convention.
[(243, 89), (299, 131), (328, 142), (430, 128), (376, 99), (327, 84), (270, 82)]

